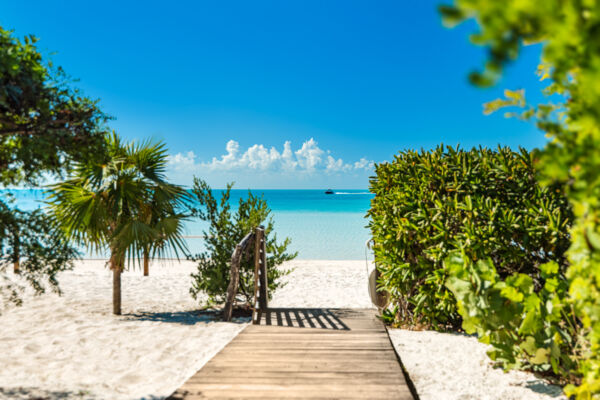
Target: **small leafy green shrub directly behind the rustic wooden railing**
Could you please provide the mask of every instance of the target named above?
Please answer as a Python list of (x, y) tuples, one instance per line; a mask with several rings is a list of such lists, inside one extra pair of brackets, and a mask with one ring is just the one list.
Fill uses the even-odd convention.
[[(240, 199), (237, 211), (231, 211), (229, 198), (232, 187), (233, 184), (227, 185), (221, 200), (217, 202), (208, 184), (194, 178), (192, 193), (200, 208), (194, 208), (192, 214), (210, 224), (208, 232), (203, 233), (206, 251), (191, 257), (198, 262), (198, 271), (192, 274), (193, 282), (190, 289), (195, 299), (200, 293), (206, 293), (211, 303), (225, 301), (230, 278), (231, 255), (235, 246), (259, 225), (265, 225), (269, 296), (282, 286), (281, 277), (288, 273), (278, 266), (297, 255), (297, 253), (286, 252), (290, 244), (289, 238), (282, 243), (277, 242), (277, 235), (273, 231), (273, 217), (270, 216), (271, 210), (262, 196), (254, 196), (249, 191), (247, 199)], [(254, 263), (250, 258), (242, 260), (240, 265), (238, 297), (250, 305), (253, 295)]]

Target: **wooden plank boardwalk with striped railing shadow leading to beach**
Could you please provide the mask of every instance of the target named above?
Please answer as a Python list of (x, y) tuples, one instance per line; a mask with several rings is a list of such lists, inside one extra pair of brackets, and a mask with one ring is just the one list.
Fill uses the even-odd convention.
[(169, 399), (413, 399), (374, 310), (269, 309), (260, 318)]

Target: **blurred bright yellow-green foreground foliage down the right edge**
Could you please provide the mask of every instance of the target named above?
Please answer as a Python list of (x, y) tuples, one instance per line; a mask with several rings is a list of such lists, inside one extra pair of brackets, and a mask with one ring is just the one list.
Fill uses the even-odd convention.
[(514, 115), (534, 121), (550, 138), (541, 161), (545, 182), (568, 183), (575, 222), (568, 251), (568, 302), (583, 323), (580, 384), (567, 388), (578, 399), (600, 398), (600, 1), (455, 0), (442, 8), (453, 25), (467, 19), (479, 29), (473, 43), (489, 50), (475, 84), (497, 82), (523, 45), (541, 43), (538, 73), (548, 85), (545, 104), (530, 105), (523, 91), (492, 102), (488, 111), (522, 107)]

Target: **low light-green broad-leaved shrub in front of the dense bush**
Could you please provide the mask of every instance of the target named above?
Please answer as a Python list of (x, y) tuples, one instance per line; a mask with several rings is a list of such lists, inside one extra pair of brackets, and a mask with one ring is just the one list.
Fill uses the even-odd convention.
[(577, 382), (580, 322), (567, 302), (564, 268), (539, 267), (543, 286), (526, 274), (505, 279), (491, 259), (469, 260), (460, 251), (445, 261), (446, 286), (458, 301), (463, 328), (492, 346), (488, 355), (505, 369), (554, 375), (555, 383)]

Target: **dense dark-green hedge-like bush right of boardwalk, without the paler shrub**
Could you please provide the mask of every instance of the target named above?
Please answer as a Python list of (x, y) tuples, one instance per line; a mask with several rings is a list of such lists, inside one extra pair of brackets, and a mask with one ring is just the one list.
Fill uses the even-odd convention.
[(523, 149), (439, 146), (376, 166), (368, 215), (380, 287), (392, 298), (388, 318), (460, 327), (443, 263), (456, 249), (489, 259), (500, 280), (525, 274), (536, 290), (545, 281), (540, 265), (555, 261), (564, 272), (571, 212), (560, 186), (538, 185), (533, 164)]

